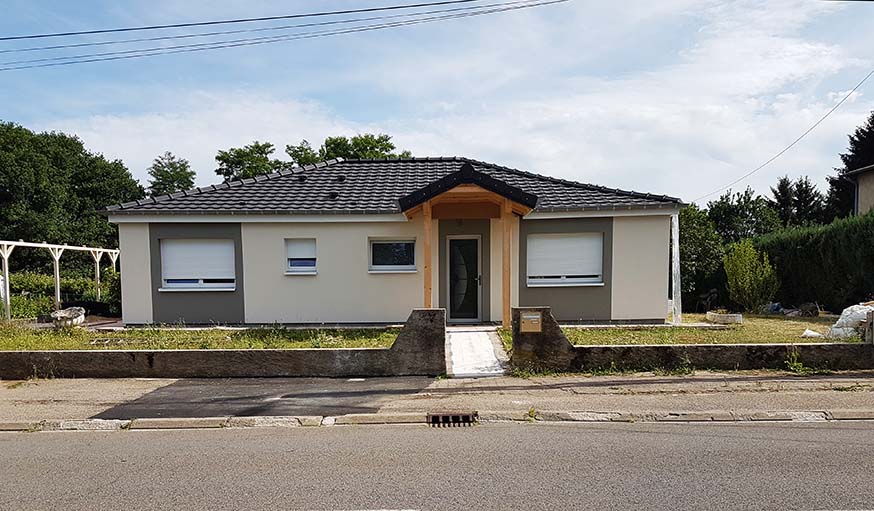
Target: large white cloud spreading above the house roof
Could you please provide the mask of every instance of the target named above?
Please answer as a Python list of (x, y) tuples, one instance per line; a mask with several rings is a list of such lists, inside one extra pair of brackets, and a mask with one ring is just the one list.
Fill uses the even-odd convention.
[[(401, 44), (388, 46), (362, 39), (372, 58), (336, 70), (335, 81), (403, 105), (372, 122), (348, 120), (329, 103), (213, 90), (180, 92), (152, 113), (40, 128), (79, 134), (143, 181), (165, 150), (189, 158), (206, 184), (215, 181), (218, 149), (258, 139), (281, 153), (301, 138), (384, 131), (417, 155), (466, 155), (691, 200), (782, 149), (846, 94), (834, 90), (850, 83), (827, 87), (830, 80), (854, 84), (871, 65), (854, 53), (863, 46), (806, 32), (841, 9), (831, 3), (566, 5), (441, 29), (457, 37), (440, 44), (404, 45), (401, 35)], [(859, 36), (874, 43), (872, 35)], [(596, 61), (603, 68), (611, 52), (652, 55), (651, 45), (665, 48), (657, 61), (626, 63), (621, 73), (589, 71)], [(861, 94), (851, 99), (739, 186), (765, 192), (786, 173), (821, 183), (846, 135), (874, 109)]]

